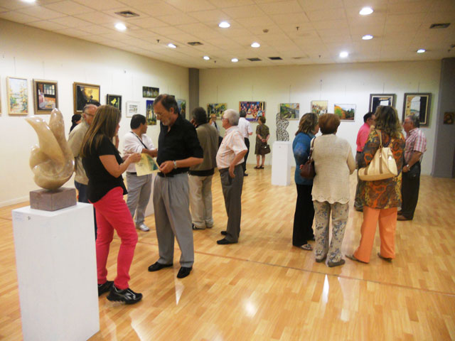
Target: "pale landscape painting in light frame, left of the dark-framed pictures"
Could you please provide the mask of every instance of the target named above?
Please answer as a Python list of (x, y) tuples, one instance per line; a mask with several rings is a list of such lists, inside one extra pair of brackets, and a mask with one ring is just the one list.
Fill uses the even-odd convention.
[(28, 114), (28, 82), (25, 78), (6, 77), (8, 114)]

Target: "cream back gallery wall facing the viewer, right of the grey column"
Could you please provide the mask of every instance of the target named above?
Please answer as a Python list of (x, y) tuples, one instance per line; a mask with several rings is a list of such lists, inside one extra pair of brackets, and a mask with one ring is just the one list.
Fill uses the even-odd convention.
[[(440, 72), (439, 60), (200, 70), (199, 104), (206, 108), (208, 103), (227, 103), (228, 108), (238, 111), (239, 101), (265, 101), (271, 146), (277, 138), (276, 115), (280, 103), (299, 103), (301, 114), (310, 112), (313, 100), (328, 100), (328, 112), (332, 113), (333, 104), (355, 104), (355, 121), (341, 121), (337, 132), (337, 136), (350, 142), (355, 153), (355, 139), (363, 124), (363, 115), (368, 112), (370, 94), (396, 94), (395, 107), (401, 119), (405, 92), (431, 92), (429, 126), (422, 127), (427, 136), (422, 173), (429, 174), (432, 171)], [(256, 126), (257, 123), (252, 124), (248, 163), (256, 163)], [(289, 121), (289, 141), (293, 141), (298, 126), (298, 120)], [(267, 155), (268, 164), (271, 164), (271, 155)]]

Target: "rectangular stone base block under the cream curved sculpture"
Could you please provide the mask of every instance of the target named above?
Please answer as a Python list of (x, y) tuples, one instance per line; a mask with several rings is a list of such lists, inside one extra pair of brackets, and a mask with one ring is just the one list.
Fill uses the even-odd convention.
[(30, 207), (34, 210), (56, 211), (77, 204), (75, 188), (58, 190), (32, 190)]

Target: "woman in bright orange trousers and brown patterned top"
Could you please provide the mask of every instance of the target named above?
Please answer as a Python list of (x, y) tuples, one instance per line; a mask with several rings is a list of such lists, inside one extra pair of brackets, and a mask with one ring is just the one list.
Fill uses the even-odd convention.
[(378, 222), (381, 239), (378, 256), (385, 261), (392, 261), (395, 258), (397, 207), (401, 205), (401, 170), (405, 138), (402, 134), (402, 126), (397, 111), (388, 106), (378, 107), (375, 112), (374, 125), (375, 129), (370, 131), (363, 148), (363, 158), (359, 160), (359, 168), (370, 165), (376, 151), (382, 146), (388, 146), (397, 163), (397, 176), (383, 180), (365, 181), (365, 186), (360, 193), (364, 200), (363, 223), (360, 229), (362, 237), (354, 254), (346, 256), (348, 259), (362, 263), (370, 261)]

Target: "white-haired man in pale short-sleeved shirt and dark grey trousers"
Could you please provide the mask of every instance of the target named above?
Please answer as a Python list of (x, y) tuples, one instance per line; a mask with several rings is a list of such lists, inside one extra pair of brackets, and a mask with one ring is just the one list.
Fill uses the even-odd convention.
[(239, 114), (228, 109), (223, 112), (223, 128), (226, 129), (223, 142), (216, 154), (216, 164), (220, 171), (221, 187), (225, 197), (228, 226), (221, 234), (225, 238), (218, 240), (218, 244), (235, 244), (240, 235), (240, 220), (242, 217), (242, 186), (243, 186), (243, 157), (247, 153), (247, 146), (237, 127)]

